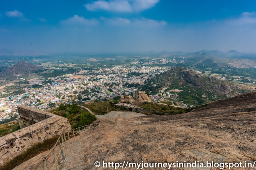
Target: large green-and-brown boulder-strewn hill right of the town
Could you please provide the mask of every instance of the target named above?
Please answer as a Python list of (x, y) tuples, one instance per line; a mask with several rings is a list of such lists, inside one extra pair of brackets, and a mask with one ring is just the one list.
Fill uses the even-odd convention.
[(192, 96), (206, 96), (209, 100), (229, 98), (243, 93), (237, 84), (220, 80), (212, 76), (204, 76), (184, 67), (174, 67), (159, 76), (152, 78), (153, 84), (180, 89)]

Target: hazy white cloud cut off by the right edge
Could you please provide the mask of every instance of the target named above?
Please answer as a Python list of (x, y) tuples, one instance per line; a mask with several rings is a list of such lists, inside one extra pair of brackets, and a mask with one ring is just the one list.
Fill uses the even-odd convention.
[(255, 12), (243, 12), (239, 18), (228, 20), (228, 23), (235, 25), (245, 25), (256, 23), (256, 13)]

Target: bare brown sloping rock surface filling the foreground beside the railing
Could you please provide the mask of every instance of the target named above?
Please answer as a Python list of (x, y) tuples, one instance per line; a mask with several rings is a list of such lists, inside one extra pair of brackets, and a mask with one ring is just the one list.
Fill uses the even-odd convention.
[[(136, 163), (247, 161), (253, 164), (256, 160), (256, 92), (216, 101), (189, 113), (118, 118), (115, 130), (85, 135), (77, 140), (68, 147), (72, 152), (67, 150), (66, 154), (66, 159), (74, 162), (60, 163), (62, 169), (96, 170), (94, 162), (103, 160)], [(32, 169), (36, 158), (15, 169)]]

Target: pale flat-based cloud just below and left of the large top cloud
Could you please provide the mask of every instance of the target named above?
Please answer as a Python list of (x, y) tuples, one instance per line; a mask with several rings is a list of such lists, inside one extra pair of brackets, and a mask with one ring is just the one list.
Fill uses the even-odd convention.
[(86, 19), (83, 16), (74, 15), (66, 20), (61, 20), (60, 23), (65, 25), (97, 25), (98, 20)]

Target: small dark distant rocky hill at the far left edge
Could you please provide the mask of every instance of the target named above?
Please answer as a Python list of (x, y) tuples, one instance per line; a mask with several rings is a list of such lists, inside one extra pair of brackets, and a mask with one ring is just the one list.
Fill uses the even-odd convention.
[(32, 63), (25, 63), (24, 61), (20, 61), (19, 63), (8, 67), (4, 72), (0, 72), (0, 75), (27, 74), (36, 72), (38, 70), (44, 70), (44, 68), (42, 66), (37, 66)]

